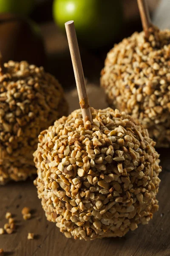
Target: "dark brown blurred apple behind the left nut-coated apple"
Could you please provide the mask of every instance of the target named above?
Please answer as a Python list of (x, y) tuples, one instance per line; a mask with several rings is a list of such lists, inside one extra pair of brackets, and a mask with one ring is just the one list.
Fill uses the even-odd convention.
[(45, 50), (39, 26), (14, 14), (0, 14), (0, 52), (3, 61), (45, 65)]

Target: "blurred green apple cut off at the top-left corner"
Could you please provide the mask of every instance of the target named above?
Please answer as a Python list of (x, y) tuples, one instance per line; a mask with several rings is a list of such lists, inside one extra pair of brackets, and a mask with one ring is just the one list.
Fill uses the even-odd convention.
[(10, 12), (22, 16), (29, 15), (34, 2), (34, 0), (0, 0), (0, 13)]

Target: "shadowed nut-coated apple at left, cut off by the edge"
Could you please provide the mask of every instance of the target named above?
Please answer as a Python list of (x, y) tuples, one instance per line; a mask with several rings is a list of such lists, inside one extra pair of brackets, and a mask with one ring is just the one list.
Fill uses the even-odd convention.
[[(43, 67), (26, 61), (8, 61), (4, 66), (6, 73), (0, 76), (0, 185), (36, 173), (32, 154), (40, 131), (68, 111), (62, 87)], [(53, 146), (51, 142), (45, 148)]]

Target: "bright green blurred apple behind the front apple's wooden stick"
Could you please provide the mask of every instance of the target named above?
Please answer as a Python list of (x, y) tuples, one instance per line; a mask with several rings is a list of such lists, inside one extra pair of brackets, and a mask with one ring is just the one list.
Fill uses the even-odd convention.
[(74, 20), (78, 41), (89, 48), (110, 44), (122, 28), (121, 0), (54, 0), (53, 16), (65, 30)]

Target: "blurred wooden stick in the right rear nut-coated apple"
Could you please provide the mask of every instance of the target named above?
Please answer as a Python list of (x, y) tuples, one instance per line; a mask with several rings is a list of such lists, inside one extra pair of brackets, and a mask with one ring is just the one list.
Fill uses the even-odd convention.
[(146, 0), (137, 0), (139, 12), (142, 20), (142, 27), (145, 32), (146, 37), (149, 36), (148, 29), (152, 26), (150, 15), (149, 15), (149, 8), (146, 3)]

